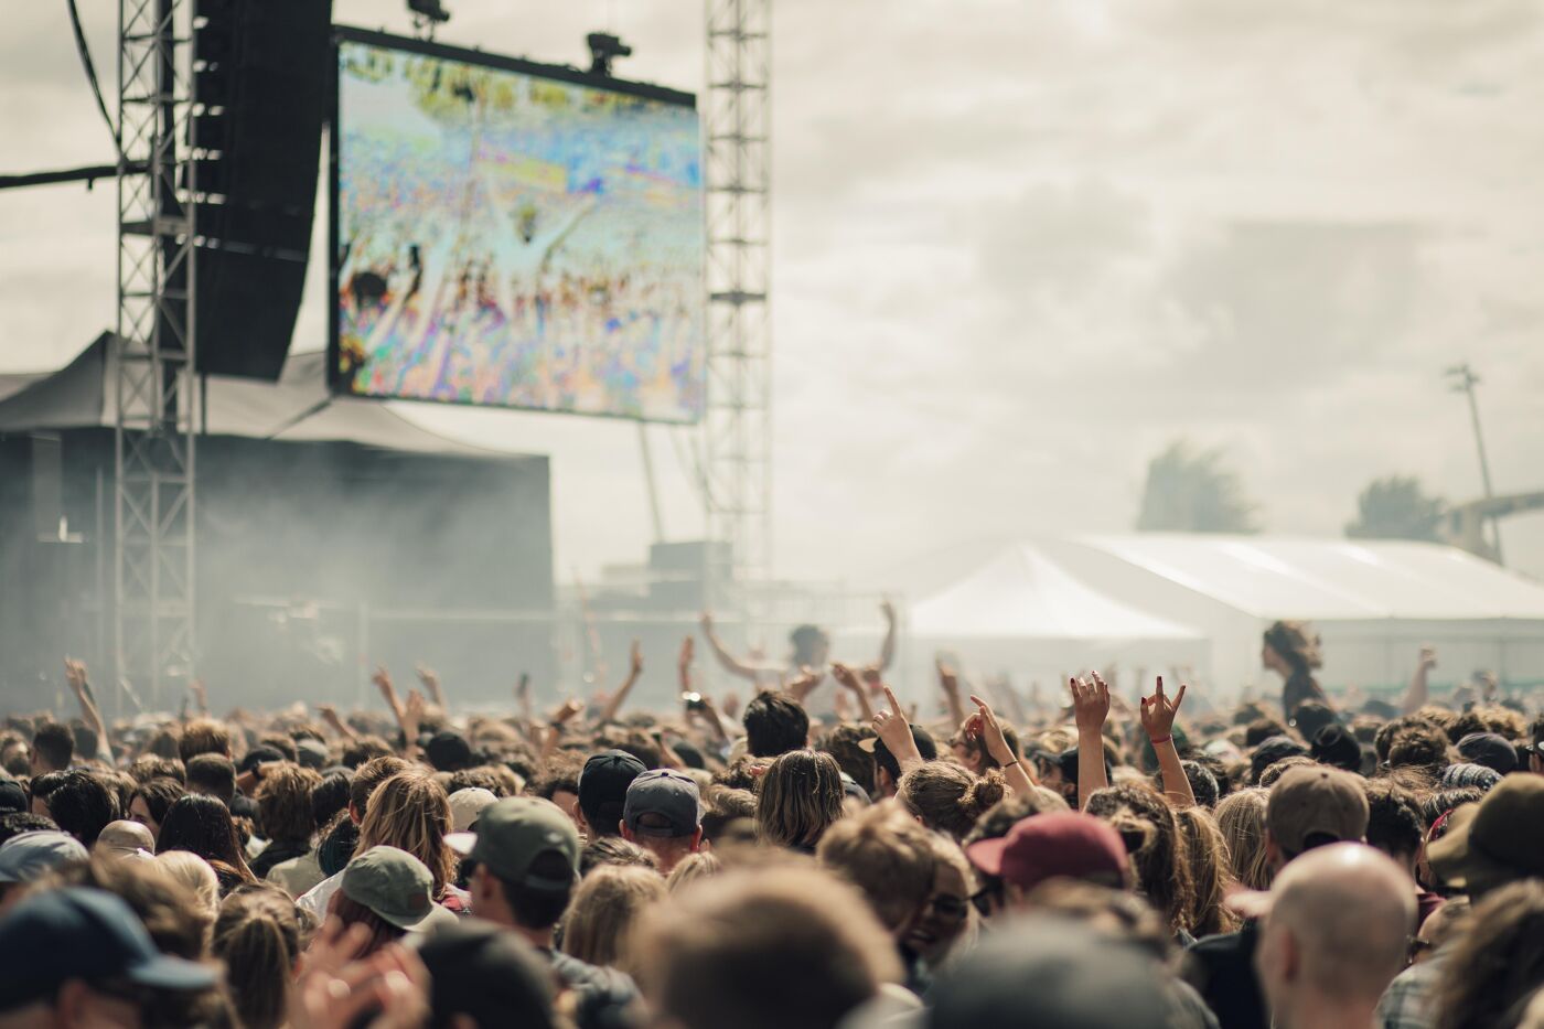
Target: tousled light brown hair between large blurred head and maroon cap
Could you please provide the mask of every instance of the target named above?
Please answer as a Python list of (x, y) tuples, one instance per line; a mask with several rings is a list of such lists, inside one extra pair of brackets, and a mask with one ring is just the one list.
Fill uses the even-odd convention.
[(897, 803), (875, 803), (837, 822), (815, 856), (862, 890), (889, 930), (909, 922), (933, 895), (933, 839)]

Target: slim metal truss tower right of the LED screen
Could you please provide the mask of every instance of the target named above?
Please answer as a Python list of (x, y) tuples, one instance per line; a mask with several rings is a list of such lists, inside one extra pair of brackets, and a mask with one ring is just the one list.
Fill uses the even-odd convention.
[(770, 6), (707, 0), (707, 582), (743, 620), (772, 572)]

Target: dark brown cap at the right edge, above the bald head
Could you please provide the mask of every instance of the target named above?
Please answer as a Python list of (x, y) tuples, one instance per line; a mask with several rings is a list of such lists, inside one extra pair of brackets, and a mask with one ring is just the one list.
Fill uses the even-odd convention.
[(1507, 776), (1479, 803), (1453, 811), (1447, 834), (1427, 844), (1427, 861), (1458, 890), (1544, 878), (1544, 776)]

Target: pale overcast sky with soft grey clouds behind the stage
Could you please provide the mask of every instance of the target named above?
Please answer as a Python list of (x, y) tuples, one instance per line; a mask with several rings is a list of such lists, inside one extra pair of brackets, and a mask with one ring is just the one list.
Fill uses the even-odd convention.
[[(79, 0), (111, 90), (116, 0)], [(701, 3), (446, 0), (442, 39), (699, 90)], [(0, 37), (0, 165), (110, 159), (60, 3)], [(406, 29), (388, 0), (337, 20)], [(917, 586), (920, 556), (1130, 528), (1147, 459), (1224, 448), (1271, 531), (1374, 476), (1544, 488), (1544, 8), (1532, 0), (781, 0), (774, 26), (777, 558)], [(113, 321), (111, 184), (0, 195), (0, 368)], [(323, 341), (313, 275), (296, 346)], [(559, 573), (636, 561), (638, 436), (405, 408), (553, 454)], [(665, 530), (701, 530), (650, 430)], [(1512, 562), (1544, 575), (1544, 516)], [(963, 558), (962, 558), (963, 559)]]

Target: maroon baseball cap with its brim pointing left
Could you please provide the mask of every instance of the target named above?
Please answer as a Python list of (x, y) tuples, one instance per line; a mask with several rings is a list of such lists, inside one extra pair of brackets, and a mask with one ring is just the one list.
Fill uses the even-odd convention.
[(1124, 885), (1130, 868), (1121, 834), (1082, 811), (1019, 819), (1007, 836), (971, 844), (965, 856), (1024, 890), (1056, 878)]

